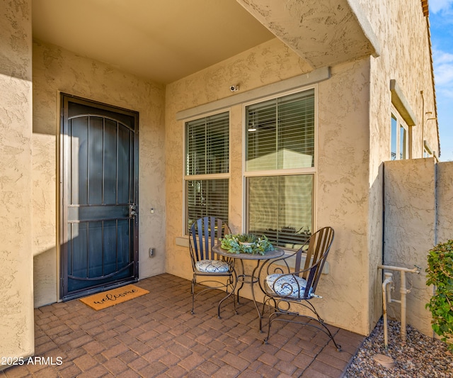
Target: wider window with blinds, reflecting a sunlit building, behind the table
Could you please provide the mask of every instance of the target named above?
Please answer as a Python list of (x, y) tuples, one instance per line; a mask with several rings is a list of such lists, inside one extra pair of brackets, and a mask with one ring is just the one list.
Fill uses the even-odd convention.
[(299, 248), (313, 229), (314, 89), (246, 106), (246, 229)]

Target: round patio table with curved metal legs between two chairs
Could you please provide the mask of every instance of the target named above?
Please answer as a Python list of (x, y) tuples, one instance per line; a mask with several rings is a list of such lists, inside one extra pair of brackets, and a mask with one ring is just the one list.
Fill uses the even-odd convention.
[[(285, 250), (282, 250), (282, 248), (274, 247), (274, 250), (265, 252), (265, 255), (251, 253), (231, 253), (228, 252), (228, 250), (224, 250), (219, 244), (214, 245), (214, 247), (212, 247), (212, 250), (216, 252), (218, 255), (231, 257), (241, 262), (241, 272), (236, 272), (237, 282), (241, 284), (241, 286), (236, 291), (237, 301), (239, 303), (239, 291), (242, 289), (243, 284), (244, 283), (250, 284), (253, 304), (255, 305), (256, 312), (258, 313), (259, 329), (261, 332), (261, 320), (263, 319), (263, 314), (261, 313), (260, 308), (256, 303), (255, 290), (253, 289), (253, 287), (255, 286), (254, 284), (259, 282), (259, 277), (256, 277), (255, 274), (256, 272), (258, 272), (258, 268), (260, 267), (261, 264), (265, 264), (265, 262), (268, 260), (276, 259), (277, 257), (282, 257), (285, 254)], [(243, 260), (256, 261), (256, 266), (253, 268), (251, 274), (245, 273), (245, 270), (243, 268)], [(234, 269), (236, 269), (236, 264), (234, 265)]]

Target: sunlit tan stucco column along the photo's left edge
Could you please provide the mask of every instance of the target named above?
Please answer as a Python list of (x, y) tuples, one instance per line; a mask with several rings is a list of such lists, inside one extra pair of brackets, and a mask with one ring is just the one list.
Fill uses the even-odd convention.
[(35, 344), (31, 72), (31, 0), (0, 0), (0, 357)]

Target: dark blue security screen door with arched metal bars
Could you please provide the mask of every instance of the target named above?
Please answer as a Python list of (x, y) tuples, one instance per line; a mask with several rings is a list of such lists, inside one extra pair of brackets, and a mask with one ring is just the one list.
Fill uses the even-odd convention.
[(61, 96), (61, 292), (138, 279), (138, 113)]

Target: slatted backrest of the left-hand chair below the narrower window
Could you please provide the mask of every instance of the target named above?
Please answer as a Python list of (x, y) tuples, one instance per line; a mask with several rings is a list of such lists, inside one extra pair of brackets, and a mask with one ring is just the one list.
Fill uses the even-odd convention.
[(228, 225), (220, 218), (205, 216), (197, 219), (190, 226), (190, 255), (192, 260), (214, 260), (217, 255), (212, 251), (212, 247), (219, 243), (220, 238), (229, 234)]

